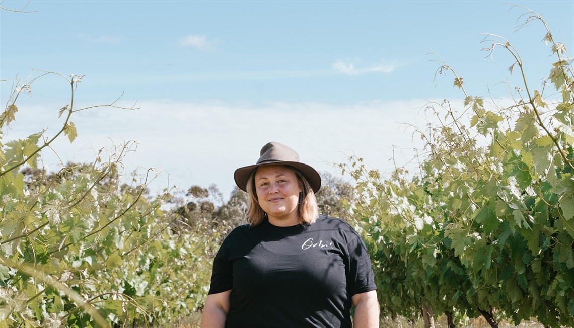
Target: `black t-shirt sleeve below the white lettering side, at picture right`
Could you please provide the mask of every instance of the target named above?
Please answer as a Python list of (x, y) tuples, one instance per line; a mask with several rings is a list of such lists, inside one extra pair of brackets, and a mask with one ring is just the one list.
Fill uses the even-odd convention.
[(348, 240), (349, 271), (347, 286), (350, 295), (377, 290), (369, 251), (359, 234), (352, 230), (352, 238)]

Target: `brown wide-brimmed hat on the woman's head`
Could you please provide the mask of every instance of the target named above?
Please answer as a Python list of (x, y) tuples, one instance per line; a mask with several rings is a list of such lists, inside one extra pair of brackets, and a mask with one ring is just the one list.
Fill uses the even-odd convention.
[(255, 165), (239, 167), (235, 170), (233, 177), (235, 178), (235, 183), (244, 192), (247, 191), (247, 180), (253, 174), (253, 171), (259, 166), (267, 165), (288, 165), (295, 167), (304, 175), (313, 192), (318, 192), (321, 188), (321, 175), (317, 173), (313, 167), (299, 162), (299, 154), (293, 149), (285, 145), (281, 145), (278, 142), (270, 142), (263, 146), (261, 149), (261, 157)]

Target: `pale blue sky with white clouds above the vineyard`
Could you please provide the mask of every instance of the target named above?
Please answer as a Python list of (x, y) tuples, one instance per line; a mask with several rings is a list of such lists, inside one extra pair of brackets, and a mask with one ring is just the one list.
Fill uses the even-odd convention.
[[(574, 1), (516, 1), (541, 14), (556, 40), (574, 46)], [(356, 154), (387, 172), (421, 147), (421, 108), (449, 99), (463, 110), (453, 76), (471, 95), (508, 97), (518, 83), (498, 49), (505, 37), (540, 88), (552, 62), (538, 21), (517, 30), (528, 10), (502, 1), (2, 1), (0, 97), (40, 72), (84, 75), (75, 106), (111, 103), (137, 111), (77, 112), (76, 142), (60, 140), (44, 164), (91, 161), (102, 147), (134, 140), (126, 174), (154, 167), (153, 188), (207, 187), (228, 196), (236, 167), (250, 165), (268, 141), (293, 147), (301, 161), (339, 174), (332, 163)], [(527, 13), (526, 16), (523, 14)], [(481, 42), (484, 39), (489, 41)], [(497, 38), (501, 40), (500, 38)], [(432, 54), (436, 53), (436, 54)], [(440, 57), (438, 57), (439, 55)], [(551, 96), (551, 95), (549, 95)], [(61, 124), (69, 103), (61, 77), (34, 82), (5, 139)], [(76, 107), (79, 108), (79, 107)], [(134, 144), (135, 145), (135, 144)], [(58, 156), (55, 154), (57, 153)]]

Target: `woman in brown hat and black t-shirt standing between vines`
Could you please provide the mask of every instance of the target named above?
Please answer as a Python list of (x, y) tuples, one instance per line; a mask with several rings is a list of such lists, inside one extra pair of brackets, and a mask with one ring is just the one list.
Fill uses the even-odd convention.
[(317, 213), (319, 173), (270, 142), (235, 170), (246, 219), (214, 259), (201, 327), (378, 327), (369, 255), (347, 222)]

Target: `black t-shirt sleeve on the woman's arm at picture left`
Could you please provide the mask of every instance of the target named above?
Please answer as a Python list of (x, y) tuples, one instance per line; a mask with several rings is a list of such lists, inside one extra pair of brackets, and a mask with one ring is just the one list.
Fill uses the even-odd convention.
[(230, 233), (224, 240), (214, 258), (211, 272), (211, 285), (208, 294), (217, 294), (228, 291), (233, 286), (233, 262), (230, 259), (230, 245), (233, 234)]

